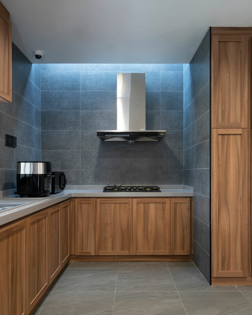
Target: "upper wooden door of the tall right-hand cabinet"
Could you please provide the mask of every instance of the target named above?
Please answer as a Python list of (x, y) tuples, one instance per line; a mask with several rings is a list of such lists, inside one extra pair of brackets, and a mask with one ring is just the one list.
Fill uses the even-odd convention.
[(212, 128), (248, 128), (248, 37), (212, 36)]

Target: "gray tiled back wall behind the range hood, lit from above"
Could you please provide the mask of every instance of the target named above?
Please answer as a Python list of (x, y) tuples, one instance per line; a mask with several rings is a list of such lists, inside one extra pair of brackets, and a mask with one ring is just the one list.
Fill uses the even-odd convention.
[[(116, 129), (117, 72), (146, 73), (146, 129), (161, 142), (101, 142)], [(69, 185), (183, 184), (182, 64), (42, 64), (42, 159)]]

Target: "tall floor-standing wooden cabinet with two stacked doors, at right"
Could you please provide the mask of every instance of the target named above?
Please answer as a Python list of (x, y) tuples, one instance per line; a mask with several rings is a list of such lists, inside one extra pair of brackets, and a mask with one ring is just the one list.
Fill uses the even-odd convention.
[(212, 284), (251, 283), (251, 37), (212, 28)]

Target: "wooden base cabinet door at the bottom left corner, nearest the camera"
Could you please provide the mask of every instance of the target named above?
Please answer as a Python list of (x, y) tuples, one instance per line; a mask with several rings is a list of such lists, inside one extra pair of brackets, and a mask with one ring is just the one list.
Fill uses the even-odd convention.
[(0, 314), (28, 314), (25, 303), (26, 221), (0, 230)]

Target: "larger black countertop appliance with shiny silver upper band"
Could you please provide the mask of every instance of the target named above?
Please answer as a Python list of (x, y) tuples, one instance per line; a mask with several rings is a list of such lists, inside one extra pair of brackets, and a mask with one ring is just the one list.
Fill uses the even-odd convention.
[(52, 189), (51, 162), (17, 162), (17, 195), (42, 197)]

